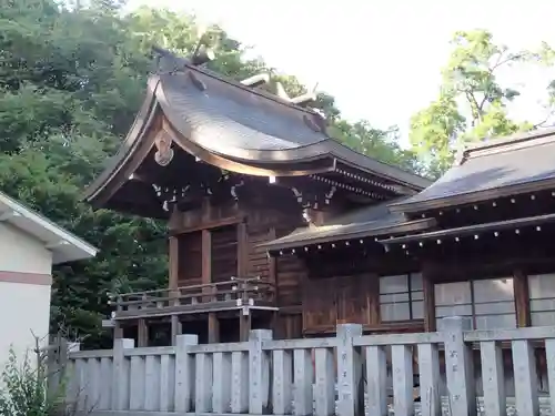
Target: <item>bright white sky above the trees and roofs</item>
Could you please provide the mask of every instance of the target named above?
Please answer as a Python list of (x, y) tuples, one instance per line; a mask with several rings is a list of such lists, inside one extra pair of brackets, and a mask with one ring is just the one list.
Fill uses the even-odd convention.
[[(343, 116), (375, 128), (398, 125), (436, 95), (457, 30), (487, 29), (511, 49), (555, 47), (555, 2), (548, 0), (130, 0), (194, 13), (253, 47), (272, 67), (335, 97)], [(523, 95), (511, 115), (544, 116), (553, 69), (501, 74)]]

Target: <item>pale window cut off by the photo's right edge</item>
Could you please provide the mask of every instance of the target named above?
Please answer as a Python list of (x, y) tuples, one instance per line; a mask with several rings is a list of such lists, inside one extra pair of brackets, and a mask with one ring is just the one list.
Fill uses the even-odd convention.
[(532, 325), (555, 325), (555, 274), (528, 276), (528, 293)]

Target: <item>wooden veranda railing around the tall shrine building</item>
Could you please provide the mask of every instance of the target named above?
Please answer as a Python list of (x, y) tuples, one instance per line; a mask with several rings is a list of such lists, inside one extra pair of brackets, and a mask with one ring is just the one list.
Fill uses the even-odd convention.
[(128, 318), (163, 310), (183, 313), (242, 306), (272, 306), (274, 286), (260, 277), (232, 277), (226, 282), (190, 285), (176, 290), (134, 292), (111, 296), (114, 318)]

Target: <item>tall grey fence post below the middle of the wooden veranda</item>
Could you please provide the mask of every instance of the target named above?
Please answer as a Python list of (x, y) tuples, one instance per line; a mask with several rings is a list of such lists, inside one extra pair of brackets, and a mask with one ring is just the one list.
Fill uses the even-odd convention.
[(191, 412), (194, 403), (194, 359), (189, 354), (191, 345), (199, 344), (198, 335), (175, 336), (175, 412)]

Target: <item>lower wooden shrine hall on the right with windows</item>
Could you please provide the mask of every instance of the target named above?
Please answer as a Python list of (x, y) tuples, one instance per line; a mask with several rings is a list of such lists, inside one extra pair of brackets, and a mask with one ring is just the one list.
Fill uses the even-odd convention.
[(493, 329), (555, 325), (554, 237), (549, 129), (467, 148), (417, 195), (265, 247), (278, 256), (303, 253), (306, 284), (320, 303), (305, 305), (305, 327), (333, 331), (341, 310), (325, 305), (343, 284), (359, 294), (352, 322), (370, 332), (436, 331), (453, 315)]

